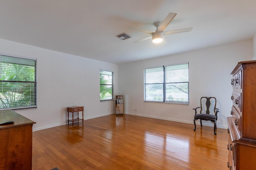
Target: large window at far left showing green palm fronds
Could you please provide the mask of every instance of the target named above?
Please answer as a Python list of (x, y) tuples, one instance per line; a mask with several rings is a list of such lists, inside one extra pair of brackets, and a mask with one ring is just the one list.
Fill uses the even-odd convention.
[(36, 107), (36, 59), (0, 55), (0, 109)]

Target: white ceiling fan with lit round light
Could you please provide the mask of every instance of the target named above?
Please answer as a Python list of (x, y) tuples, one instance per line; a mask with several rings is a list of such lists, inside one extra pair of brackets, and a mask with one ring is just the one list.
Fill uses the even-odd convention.
[(130, 27), (131, 29), (134, 29), (136, 31), (141, 31), (141, 32), (144, 32), (144, 33), (151, 34), (149, 37), (140, 39), (138, 41), (135, 41), (134, 43), (145, 41), (147, 39), (150, 39), (151, 37), (152, 37), (152, 42), (153, 43), (161, 43), (163, 41), (163, 35), (191, 31), (192, 27), (183, 28), (183, 29), (175, 29), (175, 30), (172, 30), (172, 31), (165, 31), (164, 32), (164, 29), (166, 29), (166, 27), (169, 25), (169, 23), (174, 19), (174, 17), (176, 15), (177, 15), (176, 13), (170, 12), (162, 23), (160, 21), (154, 22), (154, 25), (156, 26), (156, 31), (155, 32), (150, 32), (150, 31), (146, 31), (146, 30), (143, 30), (143, 29)]

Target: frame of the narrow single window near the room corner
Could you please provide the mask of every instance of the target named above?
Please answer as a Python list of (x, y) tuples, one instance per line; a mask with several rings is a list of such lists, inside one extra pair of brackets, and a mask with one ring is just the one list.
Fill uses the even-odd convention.
[[(106, 80), (107, 83), (102, 84), (102, 80), (101, 80), (102, 72), (106, 72), (108, 74), (111, 73), (111, 75), (112, 75), (111, 81)], [(108, 75), (108, 74), (104, 74), (104, 75)], [(111, 90), (112, 95), (109, 93), (111, 95), (111, 98), (103, 98), (103, 99), (101, 98), (102, 86), (111, 86), (112, 87), (112, 90)], [(100, 69), (100, 102), (108, 101), (108, 100), (114, 100), (114, 72), (110, 71), (110, 70)]]

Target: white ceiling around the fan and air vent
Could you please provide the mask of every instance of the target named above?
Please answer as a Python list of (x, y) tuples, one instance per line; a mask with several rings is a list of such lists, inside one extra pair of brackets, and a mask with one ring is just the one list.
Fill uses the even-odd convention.
[[(129, 26), (153, 32), (169, 12), (165, 31), (192, 31), (133, 43), (149, 34)], [(1, 39), (121, 64), (251, 39), (256, 0), (0, 0), (0, 23)]]

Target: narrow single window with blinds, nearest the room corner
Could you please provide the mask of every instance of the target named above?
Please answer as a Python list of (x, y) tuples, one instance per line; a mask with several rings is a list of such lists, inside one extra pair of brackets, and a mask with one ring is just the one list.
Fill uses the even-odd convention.
[(100, 101), (113, 99), (113, 74), (100, 70)]

